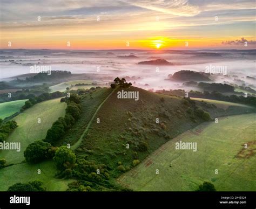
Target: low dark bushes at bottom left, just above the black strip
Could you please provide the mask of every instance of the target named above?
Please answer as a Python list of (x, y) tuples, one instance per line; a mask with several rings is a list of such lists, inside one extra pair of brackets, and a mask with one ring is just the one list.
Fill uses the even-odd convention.
[(17, 183), (12, 186), (10, 186), (7, 190), (8, 192), (39, 192), (39, 191), (45, 191), (45, 188), (43, 187), (43, 183), (35, 180), (33, 182), (29, 183)]

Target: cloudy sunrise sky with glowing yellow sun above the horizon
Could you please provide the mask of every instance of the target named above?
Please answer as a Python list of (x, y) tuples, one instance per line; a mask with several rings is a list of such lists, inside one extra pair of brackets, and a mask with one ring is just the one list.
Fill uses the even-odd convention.
[(0, 0), (0, 12), (0, 48), (256, 48), (254, 0)]

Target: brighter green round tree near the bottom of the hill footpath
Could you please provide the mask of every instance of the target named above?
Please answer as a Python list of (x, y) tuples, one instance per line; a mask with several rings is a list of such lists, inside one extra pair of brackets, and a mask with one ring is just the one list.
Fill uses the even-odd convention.
[(76, 155), (66, 146), (59, 147), (55, 152), (53, 160), (59, 170), (73, 168), (76, 163)]

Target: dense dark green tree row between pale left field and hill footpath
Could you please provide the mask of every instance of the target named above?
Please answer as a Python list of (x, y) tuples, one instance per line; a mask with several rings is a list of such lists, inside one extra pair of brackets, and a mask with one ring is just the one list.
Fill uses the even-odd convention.
[(47, 131), (45, 142), (56, 144), (80, 117), (82, 108), (79, 105), (79, 96), (77, 94), (70, 94), (70, 97), (62, 99), (62, 101), (64, 100), (68, 104), (66, 114), (64, 117), (59, 117), (59, 119), (52, 124), (52, 127)]

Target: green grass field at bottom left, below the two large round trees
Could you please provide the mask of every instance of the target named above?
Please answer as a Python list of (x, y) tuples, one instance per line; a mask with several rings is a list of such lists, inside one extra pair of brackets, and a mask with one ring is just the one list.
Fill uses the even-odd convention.
[[(41, 169), (41, 174), (38, 174)], [(40, 164), (21, 163), (0, 169), (0, 191), (8, 190), (8, 187), (16, 183), (28, 183), (33, 180), (40, 180), (46, 191), (65, 191), (68, 183), (73, 180), (57, 179), (57, 172), (53, 161), (46, 161)]]

